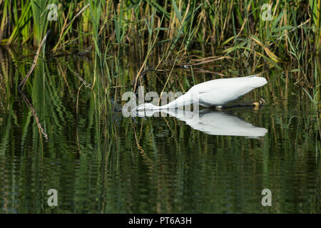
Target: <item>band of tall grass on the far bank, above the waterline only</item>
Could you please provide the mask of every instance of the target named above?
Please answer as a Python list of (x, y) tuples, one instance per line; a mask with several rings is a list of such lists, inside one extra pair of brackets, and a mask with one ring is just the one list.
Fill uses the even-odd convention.
[[(49, 22), (49, 9), (46, 6), (52, 3), (58, 6), (58, 21)], [(205, 43), (205, 46), (213, 48), (213, 53), (220, 53), (229, 44), (238, 46), (244, 38), (252, 36), (258, 36), (266, 48), (272, 46), (274, 50), (271, 51), (284, 46), (289, 48), (286, 37), (283, 37), (285, 35), (292, 43), (314, 41), (315, 38), (317, 40), (312, 43), (320, 42), (320, 0), (270, 3), (272, 21), (262, 19), (261, 7), (266, 4), (262, 0), (213, 1), (212, 4), (209, 1), (182, 0), (120, 1), (118, 4), (111, 0), (4, 0), (0, 2), (1, 43), (15, 45), (21, 41), (37, 45), (36, 41), (41, 41), (48, 23), (56, 34), (51, 41), (58, 46), (67, 45), (68, 41), (80, 42), (79, 40), (84, 44), (95, 43), (99, 34), (102, 43), (110, 41), (131, 44), (137, 52), (143, 51), (144, 54), (147, 53), (145, 48), (152, 33), (153, 38), (160, 42), (158, 44), (166, 44), (163, 50), (171, 51), (180, 51), (177, 49), (180, 47), (178, 43), (184, 43), (183, 48), (193, 46), (194, 43)], [(87, 4), (90, 7), (82, 11)], [(310, 31), (310, 28), (315, 29), (312, 33), (303, 33), (305, 37), (300, 41), (300, 38), (295, 37), (295, 32), (292, 32), (293, 28), (303, 28), (304, 32)], [(30, 33), (31, 31), (33, 32)], [(62, 39), (59, 38), (61, 33)], [(90, 38), (80, 39), (82, 36)], [(277, 43), (272, 45), (274, 41)], [(269, 51), (265, 56), (276, 60)]]

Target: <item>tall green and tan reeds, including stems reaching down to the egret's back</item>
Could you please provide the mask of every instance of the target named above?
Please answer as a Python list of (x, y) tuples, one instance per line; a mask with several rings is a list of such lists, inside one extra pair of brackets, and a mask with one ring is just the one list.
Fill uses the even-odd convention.
[[(175, 66), (190, 68), (192, 76), (196, 66), (223, 76), (270, 68), (281, 72), (289, 63), (299, 72), (297, 85), (312, 95), (311, 88), (320, 90), (313, 73), (321, 42), (320, 1), (3, 0), (0, 43), (39, 46), (50, 28), (51, 55), (92, 46), (96, 68), (91, 84), (99, 91), (99, 100), (110, 86), (128, 86), (119, 71), (123, 56), (137, 61), (138, 71), (131, 78), (134, 91), (146, 83), (148, 71), (160, 70), (170, 72), (161, 78), (165, 89)], [(262, 9), (266, 3), (272, 5), (267, 21)], [(47, 19), (49, 4), (56, 4), (58, 21)], [(223, 58), (234, 66), (227, 73), (213, 66)], [(239, 71), (244, 66), (251, 68)], [(193, 77), (193, 83), (200, 81)]]

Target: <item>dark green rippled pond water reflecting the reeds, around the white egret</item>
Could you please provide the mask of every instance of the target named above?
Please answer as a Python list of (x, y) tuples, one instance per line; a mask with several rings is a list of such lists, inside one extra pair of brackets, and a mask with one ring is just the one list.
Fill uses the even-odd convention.
[[(171, 116), (124, 118), (120, 94), (131, 90), (135, 64), (120, 68), (129, 87), (116, 97), (111, 88), (116, 111), (99, 116), (98, 95), (79, 89), (93, 83), (91, 58), (40, 61), (24, 98), (16, 87), (32, 56), (18, 56), (0, 52), (1, 213), (321, 212), (317, 111), (294, 74), (269, 71), (269, 83), (243, 99), (262, 95), (263, 108), (209, 110), (203, 123), (218, 131), (230, 124), (233, 133), (236, 121), (263, 135), (210, 135)], [(189, 71), (173, 75), (193, 86)], [(148, 90), (160, 92), (163, 84), (148, 77)], [(229, 119), (217, 121), (215, 113)], [(50, 189), (57, 207), (47, 204)], [(272, 192), (271, 207), (261, 204), (263, 189)]]

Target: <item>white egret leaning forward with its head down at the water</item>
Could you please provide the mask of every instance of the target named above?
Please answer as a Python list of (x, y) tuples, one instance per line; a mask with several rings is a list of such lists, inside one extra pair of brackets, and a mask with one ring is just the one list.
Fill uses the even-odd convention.
[(215, 79), (193, 86), (187, 93), (166, 105), (157, 106), (152, 103), (144, 103), (139, 105), (136, 110), (163, 110), (193, 103), (198, 103), (205, 107), (216, 106), (217, 108), (222, 108), (222, 105), (230, 103), (250, 92), (250, 90), (264, 86), (266, 83), (265, 78), (256, 75)]

